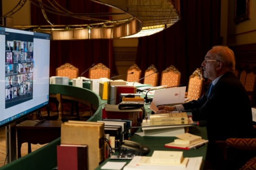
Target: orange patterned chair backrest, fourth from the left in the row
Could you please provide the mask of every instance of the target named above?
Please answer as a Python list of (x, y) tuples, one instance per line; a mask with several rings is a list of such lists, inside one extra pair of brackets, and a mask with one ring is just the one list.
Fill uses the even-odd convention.
[(154, 73), (156, 71), (157, 71), (157, 69), (155, 68), (155, 66), (153, 64), (151, 64), (151, 66), (149, 68), (147, 68), (145, 71), (145, 74), (144, 74), (145, 78), (144, 78), (143, 84), (157, 86), (158, 72)]

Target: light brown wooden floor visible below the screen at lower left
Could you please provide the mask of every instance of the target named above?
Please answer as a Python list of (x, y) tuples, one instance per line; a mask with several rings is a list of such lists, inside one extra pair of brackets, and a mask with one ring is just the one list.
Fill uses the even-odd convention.
[[(45, 144), (31, 144), (31, 150), (33, 152), (44, 145)], [(21, 148), (21, 155), (25, 156), (26, 154), (27, 154), (27, 143), (23, 143)], [(6, 157), (5, 128), (1, 128), (0, 129), (0, 167), (6, 164), (7, 164), (7, 157)]]

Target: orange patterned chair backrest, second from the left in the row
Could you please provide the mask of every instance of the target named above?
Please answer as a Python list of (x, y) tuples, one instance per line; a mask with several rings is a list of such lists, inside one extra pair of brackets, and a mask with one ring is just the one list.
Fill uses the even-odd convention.
[(110, 79), (110, 68), (98, 63), (89, 69), (89, 79), (108, 78)]

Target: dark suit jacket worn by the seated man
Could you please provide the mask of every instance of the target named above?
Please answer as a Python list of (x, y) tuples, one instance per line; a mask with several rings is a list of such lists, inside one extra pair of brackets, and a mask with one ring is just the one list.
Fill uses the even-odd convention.
[[(208, 92), (207, 92), (208, 93)], [(207, 121), (209, 140), (252, 137), (252, 107), (247, 92), (232, 72), (227, 72), (198, 100), (184, 103), (193, 120)]]

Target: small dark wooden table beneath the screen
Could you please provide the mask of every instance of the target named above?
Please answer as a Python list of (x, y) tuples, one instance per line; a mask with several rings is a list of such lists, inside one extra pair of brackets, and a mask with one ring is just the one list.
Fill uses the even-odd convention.
[(42, 123), (25, 120), (16, 125), (18, 158), (21, 157), (22, 143), (28, 143), (28, 153), (31, 144), (46, 144), (61, 136), (62, 121), (45, 120)]

